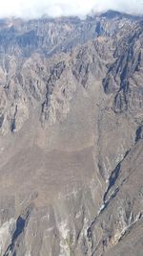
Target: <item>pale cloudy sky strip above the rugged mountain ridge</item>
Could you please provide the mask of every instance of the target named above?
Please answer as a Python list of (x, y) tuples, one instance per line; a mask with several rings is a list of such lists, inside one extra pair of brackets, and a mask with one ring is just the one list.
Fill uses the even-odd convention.
[(78, 15), (115, 10), (143, 14), (143, 0), (0, 0), (0, 18), (36, 18)]

